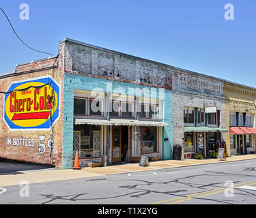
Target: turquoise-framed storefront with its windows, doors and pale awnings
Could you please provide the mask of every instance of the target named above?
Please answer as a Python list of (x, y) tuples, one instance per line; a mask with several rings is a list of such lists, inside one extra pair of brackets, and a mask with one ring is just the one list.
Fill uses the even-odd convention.
[[(103, 155), (108, 157), (109, 163), (138, 162), (143, 154), (171, 159), (169, 90), (86, 76), (66, 76), (69, 81), (79, 80), (72, 89), (68, 84), (69, 91), (64, 93), (64, 97), (73, 102), (72, 110), (64, 110), (66, 116), (73, 118), (72, 128), (66, 125), (64, 129), (64, 132), (66, 129), (73, 132), (73, 161), (76, 151), (81, 166), (91, 161), (101, 162)], [(130, 94), (131, 89), (136, 90)], [(145, 96), (140, 92), (142, 89), (150, 95)], [(63, 149), (66, 151), (66, 146), (70, 146), (67, 139), (71, 142), (70, 130), (64, 136)]]

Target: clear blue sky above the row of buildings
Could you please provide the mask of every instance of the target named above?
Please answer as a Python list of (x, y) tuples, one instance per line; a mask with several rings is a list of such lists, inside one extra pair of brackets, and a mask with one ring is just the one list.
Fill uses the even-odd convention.
[[(20, 20), (21, 3), (29, 20)], [(232, 3), (235, 20), (225, 20)], [(29, 46), (57, 55), (66, 37), (256, 87), (256, 1), (2, 0)], [(42, 59), (0, 12), (0, 72)]]

